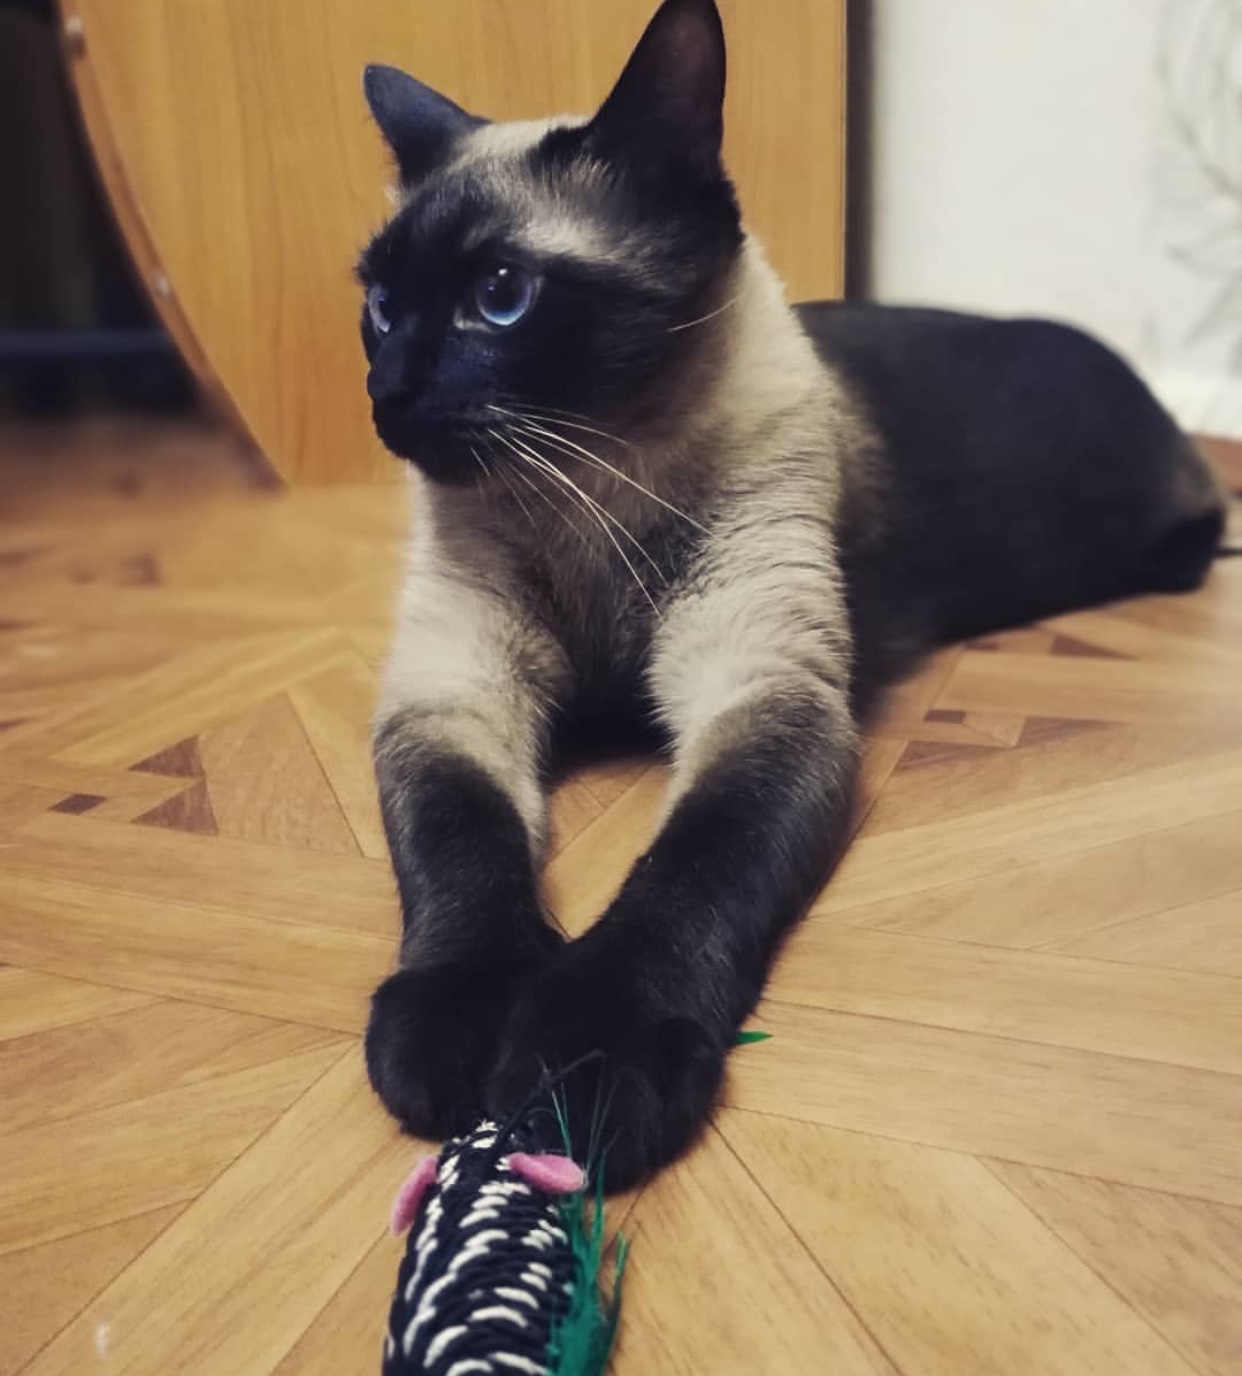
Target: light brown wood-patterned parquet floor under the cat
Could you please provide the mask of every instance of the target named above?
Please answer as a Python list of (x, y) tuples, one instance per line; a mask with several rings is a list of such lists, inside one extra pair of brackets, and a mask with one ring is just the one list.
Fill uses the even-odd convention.
[[(400, 490), (121, 422), (0, 482), (0, 1373), (377, 1372)], [(561, 786), (571, 929), (663, 782)], [(1242, 560), (902, 688), (754, 1025), (613, 1210), (620, 1376), (1242, 1372)]]

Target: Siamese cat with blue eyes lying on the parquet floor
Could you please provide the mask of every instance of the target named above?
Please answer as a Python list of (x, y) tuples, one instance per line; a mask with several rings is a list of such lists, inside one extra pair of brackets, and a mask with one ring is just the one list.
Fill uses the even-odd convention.
[[(364, 87), (400, 178), (359, 266), (367, 391), (417, 486), (374, 733), (404, 925), (367, 1066), (426, 1137), (569, 1068), (574, 1145), (602, 1131), (620, 1189), (707, 1116), (882, 688), (945, 641), (1195, 588), (1223, 494), (1076, 330), (787, 305), (721, 162), (712, 0), (666, 0), (591, 118)], [(626, 720), (671, 754), (663, 824), (565, 941), (547, 773)]]

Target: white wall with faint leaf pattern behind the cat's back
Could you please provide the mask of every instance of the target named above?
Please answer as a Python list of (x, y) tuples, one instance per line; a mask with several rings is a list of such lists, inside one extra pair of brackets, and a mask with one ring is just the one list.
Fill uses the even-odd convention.
[(871, 294), (1092, 329), (1242, 436), (1242, 0), (873, 0)]

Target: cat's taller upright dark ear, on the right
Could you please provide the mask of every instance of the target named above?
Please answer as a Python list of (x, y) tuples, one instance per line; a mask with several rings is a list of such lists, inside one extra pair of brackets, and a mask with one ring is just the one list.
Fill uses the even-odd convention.
[(712, 175), (723, 100), (725, 30), (714, 0), (664, 0), (587, 138), (605, 158)]

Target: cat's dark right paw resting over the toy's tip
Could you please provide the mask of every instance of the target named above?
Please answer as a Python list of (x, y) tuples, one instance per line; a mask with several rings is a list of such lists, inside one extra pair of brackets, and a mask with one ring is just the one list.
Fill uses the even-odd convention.
[[(602, 1167), (608, 1193), (629, 1189), (695, 1139), (719, 1090), (725, 1051), (701, 1022), (656, 1011), (627, 989), (619, 970), (591, 973), (567, 948), (517, 996), (487, 1086), (487, 1108), (505, 1119), (541, 1083), (556, 1083), (574, 1159)], [(542, 1095), (541, 1095), (542, 1098)], [(560, 1126), (532, 1119), (539, 1145), (561, 1150)]]

